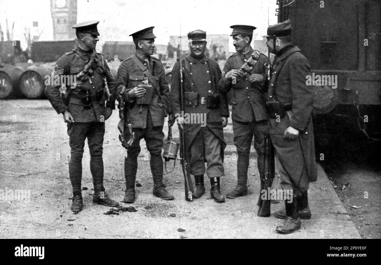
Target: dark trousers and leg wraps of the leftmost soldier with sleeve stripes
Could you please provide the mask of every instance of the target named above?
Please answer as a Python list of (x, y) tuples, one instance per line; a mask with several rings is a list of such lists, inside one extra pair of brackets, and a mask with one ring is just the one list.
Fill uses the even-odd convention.
[(69, 176), (73, 193), (81, 191), (82, 157), (87, 138), (90, 151), (90, 171), (93, 176), (94, 193), (104, 191), (103, 187), (103, 138), (104, 122), (74, 122), (67, 124), (69, 135)]

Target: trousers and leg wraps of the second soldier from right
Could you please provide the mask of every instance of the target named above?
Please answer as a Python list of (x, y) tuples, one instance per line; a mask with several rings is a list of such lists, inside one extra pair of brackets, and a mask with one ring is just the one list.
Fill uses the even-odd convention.
[(234, 145), (237, 148), (237, 185), (246, 187), (247, 171), (250, 160), (251, 142), (254, 137), (254, 149), (258, 154), (258, 170), (264, 177), (264, 158), (266, 157), (265, 136), (267, 135), (267, 120), (259, 122), (237, 122), (233, 120)]

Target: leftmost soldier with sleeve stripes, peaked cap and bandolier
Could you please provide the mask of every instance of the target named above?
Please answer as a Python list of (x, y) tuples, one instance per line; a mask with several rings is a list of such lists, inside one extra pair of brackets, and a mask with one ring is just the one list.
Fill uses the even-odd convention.
[(45, 88), (45, 94), (53, 108), (57, 113), (62, 113), (67, 122), (71, 150), (69, 176), (73, 187), (71, 210), (74, 212), (83, 208), (82, 156), (86, 138), (94, 184), (93, 202), (112, 207), (119, 205), (105, 194), (103, 186), (104, 121), (115, 109), (115, 80), (106, 60), (95, 50), (99, 40), (98, 23), (99, 21), (87, 21), (74, 25), (78, 46), (59, 58), (54, 67), (53, 76), (75, 75), (76, 84), (70, 84), (71, 87), (66, 84), (64, 97), (61, 97), (59, 91), (62, 84), (47, 85)]

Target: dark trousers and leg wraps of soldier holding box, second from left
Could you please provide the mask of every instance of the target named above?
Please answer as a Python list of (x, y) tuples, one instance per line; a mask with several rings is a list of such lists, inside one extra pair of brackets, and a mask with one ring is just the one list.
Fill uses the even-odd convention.
[(163, 184), (163, 125), (153, 126), (150, 111), (147, 114), (146, 128), (133, 128), (136, 140), (130, 148), (127, 149), (127, 157), (124, 160), (124, 175), (126, 178), (126, 187), (133, 188), (135, 186), (136, 173), (138, 171), (138, 155), (141, 151), (140, 140), (144, 138), (147, 150), (150, 153), (150, 168), (154, 179), (154, 186)]

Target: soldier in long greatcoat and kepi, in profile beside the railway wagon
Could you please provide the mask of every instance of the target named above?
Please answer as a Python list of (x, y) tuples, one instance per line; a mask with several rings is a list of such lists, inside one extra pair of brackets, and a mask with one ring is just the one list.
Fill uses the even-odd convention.
[(312, 109), (314, 87), (306, 85), (311, 67), (291, 41), (290, 20), (269, 26), (267, 47), (275, 53), (267, 106), (269, 134), (279, 159), (280, 185), (293, 192), (285, 210), (274, 215), (286, 219), (278, 233), (292, 233), (301, 227), (301, 218), (310, 219), (307, 190), (317, 180)]

